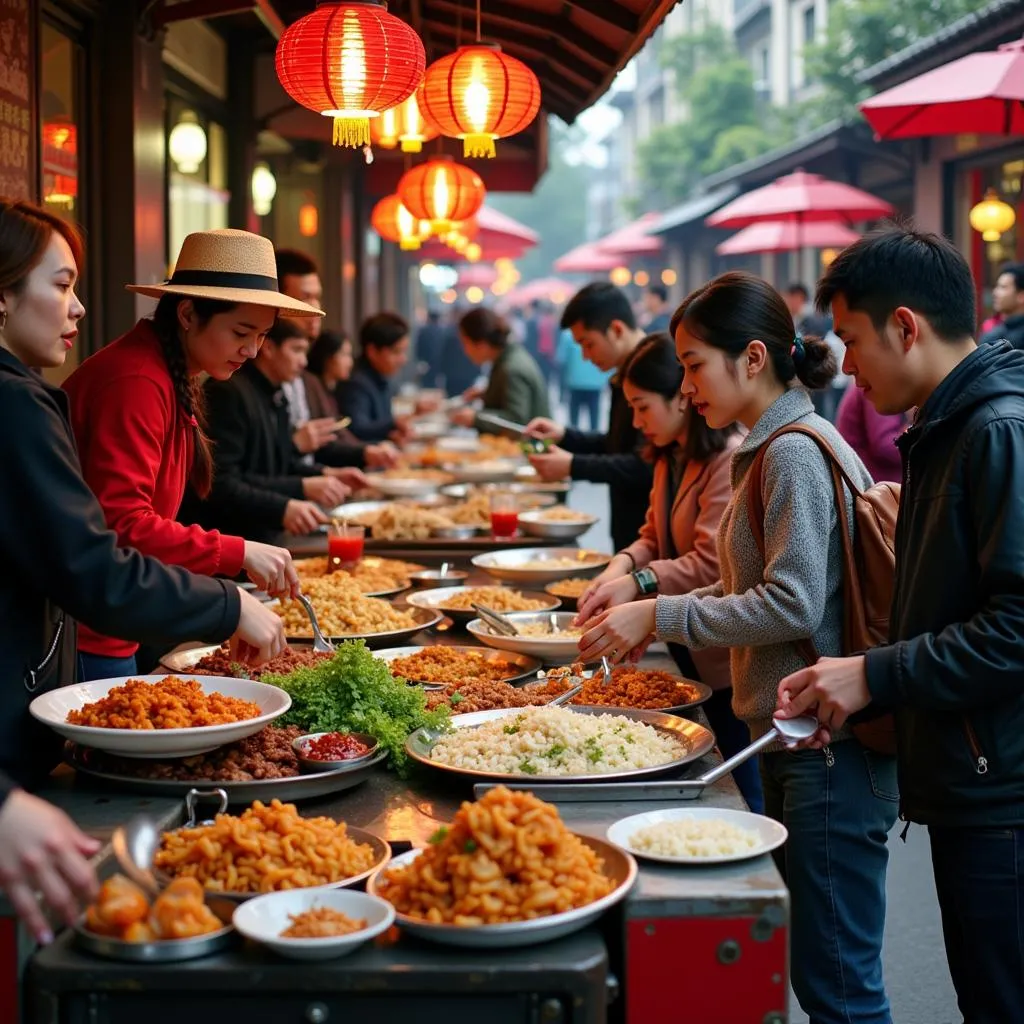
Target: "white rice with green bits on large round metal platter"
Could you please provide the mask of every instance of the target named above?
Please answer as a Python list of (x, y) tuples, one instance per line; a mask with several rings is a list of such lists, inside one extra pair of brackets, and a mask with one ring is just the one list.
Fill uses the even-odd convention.
[(599, 775), (675, 761), (683, 744), (621, 715), (528, 708), (441, 737), (430, 757), (441, 764), (508, 775)]

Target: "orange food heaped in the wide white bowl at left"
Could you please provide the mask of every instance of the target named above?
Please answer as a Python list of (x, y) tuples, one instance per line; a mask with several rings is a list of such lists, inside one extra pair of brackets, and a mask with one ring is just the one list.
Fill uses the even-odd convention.
[(193, 729), (244, 722), (262, 714), (252, 700), (205, 693), (195, 679), (168, 676), (159, 683), (129, 679), (99, 700), (68, 712), (68, 722), (99, 729)]

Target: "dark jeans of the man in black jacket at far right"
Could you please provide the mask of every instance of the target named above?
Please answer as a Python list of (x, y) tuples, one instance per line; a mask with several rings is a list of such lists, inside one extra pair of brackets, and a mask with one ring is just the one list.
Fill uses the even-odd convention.
[(1024, 1014), (1024, 828), (928, 829), (949, 974), (966, 1024)]

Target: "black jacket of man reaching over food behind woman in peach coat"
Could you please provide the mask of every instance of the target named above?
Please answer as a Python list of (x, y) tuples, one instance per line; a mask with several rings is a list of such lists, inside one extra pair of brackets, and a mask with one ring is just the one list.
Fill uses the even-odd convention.
[(640, 457), (644, 439), (633, 426), (633, 411), (623, 394), (622, 382), (613, 377), (608, 432), (584, 433), (565, 428), (561, 446), (572, 453), (573, 480), (607, 483), (611, 503), (611, 543), (616, 551), (629, 547), (640, 534), (647, 516), (654, 470)]

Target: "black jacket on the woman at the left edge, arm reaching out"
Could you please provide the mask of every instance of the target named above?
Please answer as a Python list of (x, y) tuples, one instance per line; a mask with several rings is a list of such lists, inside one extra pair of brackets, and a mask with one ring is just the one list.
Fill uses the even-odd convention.
[(4, 349), (0, 496), (2, 803), (12, 780), (33, 785), (59, 760), (59, 737), (28, 707), (75, 682), (73, 618), (166, 649), (219, 643), (238, 626), (240, 604), (233, 584), (118, 547), (82, 478), (68, 396)]

